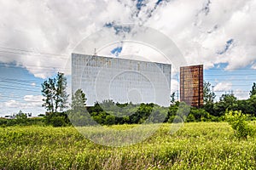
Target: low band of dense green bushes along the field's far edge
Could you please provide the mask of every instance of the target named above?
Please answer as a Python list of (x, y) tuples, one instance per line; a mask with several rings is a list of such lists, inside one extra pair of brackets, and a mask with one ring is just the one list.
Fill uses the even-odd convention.
[[(83, 94), (83, 91), (79, 91)], [(78, 95), (78, 94), (77, 94)], [(207, 103), (202, 108), (195, 108), (183, 102), (175, 102), (169, 107), (155, 104), (134, 105), (119, 104), (105, 100), (94, 106), (74, 104), (73, 108), (62, 112), (47, 112), (43, 117), (28, 118), (18, 114), (15, 119), (0, 119), (0, 126), (88, 126), (113, 124), (141, 124), (158, 122), (222, 122), (227, 111), (241, 111), (249, 119), (255, 120), (256, 96), (246, 100), (237, 100), (234, 95), (224, 94), (216, 103)]]

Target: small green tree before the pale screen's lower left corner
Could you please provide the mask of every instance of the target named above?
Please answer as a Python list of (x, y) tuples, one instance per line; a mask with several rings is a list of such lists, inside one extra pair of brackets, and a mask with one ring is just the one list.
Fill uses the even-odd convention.
[(86, 100), (83, 90), (79, 88), (72, 96), (71, 108), (73, 110), (83, 109), (86, 105)]

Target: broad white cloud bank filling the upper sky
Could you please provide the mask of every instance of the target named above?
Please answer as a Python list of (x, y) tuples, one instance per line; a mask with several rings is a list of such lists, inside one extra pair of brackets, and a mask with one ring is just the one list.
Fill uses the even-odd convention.
[(189, 65), (226, 63), (236, 69), (256, 60), (256, 1), (156, 2), (145, 0), (139, 7), (128, 0), (1, 1), (0, 61), (49, 77), (65, 71), (73, 48), (106, 23), (139, 23), (165, 33)]

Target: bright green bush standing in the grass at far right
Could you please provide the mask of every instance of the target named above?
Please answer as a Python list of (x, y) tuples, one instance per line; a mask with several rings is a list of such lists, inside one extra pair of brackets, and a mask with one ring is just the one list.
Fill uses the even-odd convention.
[(255, 130), (249, 126), (246, 121), (247, 116), (242, 114), (241, 111), (229, 111), (226, 113), (225, 119), (234, 129), (238, 139), (247, 139), (247, 136), (253, 137)]

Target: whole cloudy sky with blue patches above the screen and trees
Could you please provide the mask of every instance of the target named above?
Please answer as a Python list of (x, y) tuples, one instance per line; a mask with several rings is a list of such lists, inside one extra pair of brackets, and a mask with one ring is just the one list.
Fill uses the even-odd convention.
[[(203, 64), (217, 98), (233, 91), (247, 99), (256, 82), (255, 0), (0, 0), (0, 11), (0, 116), (44, 113), (40, 84), (68, 70), (71, 53), (86, 37), (102, 28), (114, 34), (127, 23), (159, 31), (188, 65)], [(102, 53), (132, 51), (161, 61), (154, 53), (140, 54), (145, 47), (107, 49)], [(177, 75), (172, 78), (177, 91)]]

